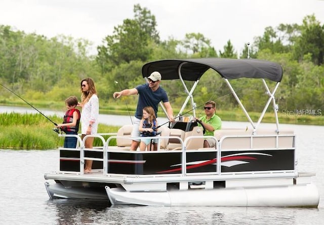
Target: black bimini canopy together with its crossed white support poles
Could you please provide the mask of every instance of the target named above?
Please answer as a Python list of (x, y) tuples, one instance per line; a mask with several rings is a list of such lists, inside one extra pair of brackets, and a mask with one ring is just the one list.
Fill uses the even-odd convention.
[[(256, 130), (260, 125), (264, 117), (264, 114), (272, 101), (276, 126), (277, 126), (276, 131), (279, 133), (278, 116), (277, 116), (278, 106), (275, 103), (274, 94), (279, 86), (283, 73), (282, 73), (282, 67), (277, 63), (264, 61), (264, 60), (257, 60), (257, 59), (224, 59), (224, 58), (166, 59), (166, 60), (158, 60), (158, 61), (146, 63), (142, 67), (142, 74), (143, 74), (143, 78), (146, 78), (150, 75), (151, 72), (159, 71), (161, 73), (162, 80), (179, 79), (185, 88), (185, 92), (187, 93), (187, 98), (184, 101), (178, 116), (182, 114), (189, 99), (191, 99), (191, 105), (194, 114), (193, 116), (195, 117), (196, 104), (193, 101), (192, 93), (196, 88), (199, 79), (201, 78), (201, 76), (203, 76), (203, 74), (208, 69), (213, 69), (217, 71), (220, 74), (220, 76), (225, 80), (227, 86), (230, 88), (239, 106), (242, 108), (249, 122), (251, 123), (254, 129), (253, 130), (254, 133), (256, 133)], [(266, 94), (269, 96), (268, 101), (256, 125), (252, 121), (244, 105), (237, 97), (235, 90), (229, 83), (229, 80), (238, 79), (238, 78), (262, 79), (264, 87), (266, 89)], [(272, 92), (269, 90), (265, 82), (265, 79), (276, 82), (276, 85)], [(184, 81), (194, 82), (190, 91), (188, 90)]]

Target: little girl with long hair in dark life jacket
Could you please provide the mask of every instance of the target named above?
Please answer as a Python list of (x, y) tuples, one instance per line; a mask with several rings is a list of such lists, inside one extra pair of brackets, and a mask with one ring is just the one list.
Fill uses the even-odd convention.
[[(139, 131), (141, 134), (141, 137), (152, 137), (158, 134), (156, 132), (157, 127), (157, 121), (154, 113), (154, 109), (151, 106), (146, 106), (143, 108), (143, 117), (140, 122)], [(156, 139), (153, 139), (152, 142), (155, 142)], [(147, 147), (147, 151), (153, 151), (153, 146), (151, 146), (151, 139), (141, 139), (140, 143), (140, 151), (145, 151), (145, 148)]]

